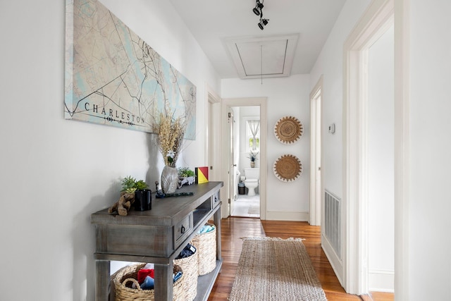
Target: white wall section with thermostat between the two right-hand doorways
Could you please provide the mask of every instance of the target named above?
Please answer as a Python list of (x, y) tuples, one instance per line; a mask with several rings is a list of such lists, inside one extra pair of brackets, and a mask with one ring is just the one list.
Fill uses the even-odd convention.
[(324, 188), (342, 197), (342, 99), (343, 99), (343, 44), (352, 28), (370, 3), (370, 0), (348, 0), (310, 73), (310, 90), (323, 75), (321, 90), (322, 125), (335, 123), (335, 134), (323, 130), (322, 166)]

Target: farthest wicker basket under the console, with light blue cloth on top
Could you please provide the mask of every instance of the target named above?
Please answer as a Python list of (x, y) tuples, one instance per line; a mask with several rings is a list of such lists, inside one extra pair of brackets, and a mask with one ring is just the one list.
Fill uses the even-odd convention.
[(216, 268), (216, 226), (213, 223), (206, 223), (214, 229), (207, 233), (197, 233), (191, 240), (198, 253), (198, 274), (199, 276), (209, 274)]

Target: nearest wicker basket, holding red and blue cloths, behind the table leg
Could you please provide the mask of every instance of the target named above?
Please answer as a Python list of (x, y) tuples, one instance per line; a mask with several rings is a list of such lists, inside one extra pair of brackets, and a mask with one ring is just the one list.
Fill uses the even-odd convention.
[[(154, 290), (142, 290), (138, 283), (138, 271), (146, 264), (132, 264), (125, 266), (111, 276), (113, 279), (114, 288), (116, 290), (116, 301), (154, 301)], [(183, 271), (180, 266), (174, 265), (174, 273)], [(184, 275), (175, 281), (173, 286), (173, 300), (186, 301), (185, 290), (183, 289)], [(156, 281), (156, 280), (155, 280)], [(132, 283), (135, 283), (137, 288), (132, 288)]]

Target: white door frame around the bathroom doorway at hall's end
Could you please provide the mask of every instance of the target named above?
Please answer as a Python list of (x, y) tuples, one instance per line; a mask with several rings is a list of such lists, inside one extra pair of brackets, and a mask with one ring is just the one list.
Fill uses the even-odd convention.
[[(228, 108), (233, 106), (260, 106), (260, 137), (267, 135), (267, 97), (245, 97), (222, 99), (221, 105), (221, 137), (228, 137)], [(228, 198), (228, 151), (230, 149), (229, 139), (222, 139), (221, 147), (221, 175), (224, 179), (224, 199)], [(266, 139), (260, 138), (260, 219), (266, 219)], [(222, 192), (221, 192), (222, 193)], [(226, 204), (225, 204), (226, 203)], [(221, 217), (228, 217), (228, 204), (223, 202), (221, 206)]]

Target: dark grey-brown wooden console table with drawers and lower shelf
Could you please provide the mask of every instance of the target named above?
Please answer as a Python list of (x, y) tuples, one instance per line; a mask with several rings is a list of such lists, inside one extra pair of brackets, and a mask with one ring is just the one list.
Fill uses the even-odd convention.
[(213, 216), (216, 225), (216, 269), (199, 276), (195, 300), (207, 300), (221, 271), (222, 182), (183, 186), (177, 192), (194, 192), (187, 197), (156, 199), (152, 210), (130, 209), (127, 216), (111, 215), (108, 209), (91, 215), (96, 228), (96, 300), (109, 300), (110, 261), (155, 264), (155, 300), (173, 300), (173, 259)]

